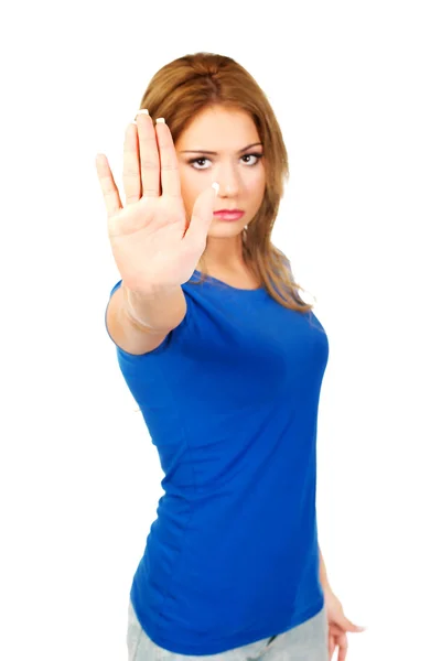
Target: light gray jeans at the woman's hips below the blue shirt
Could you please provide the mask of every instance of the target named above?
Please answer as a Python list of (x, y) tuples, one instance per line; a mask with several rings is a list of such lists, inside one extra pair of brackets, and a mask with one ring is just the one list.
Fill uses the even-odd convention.
[(127, 647), (129, 661), (327, 661), (327, 618), (323, 607), (284, 633), (201, 657), (178, 654), (155, 644), (143, 631), (130, 600)]

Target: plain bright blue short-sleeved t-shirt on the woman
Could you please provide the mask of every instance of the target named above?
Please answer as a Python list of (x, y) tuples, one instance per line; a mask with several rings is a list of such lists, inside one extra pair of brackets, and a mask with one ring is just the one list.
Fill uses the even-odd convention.
[(157, 349), (117, 347), (164, 472), (130, 597), (158, 646), (195, 655), (283, 633), (324, 606), (315, 490), (329, 358), (312, 312), (263, 288), (192, 284), (200, 275)]

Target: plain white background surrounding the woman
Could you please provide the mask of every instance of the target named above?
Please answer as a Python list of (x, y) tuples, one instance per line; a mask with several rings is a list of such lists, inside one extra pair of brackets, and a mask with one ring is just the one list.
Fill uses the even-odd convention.
[[(437, 7), (438, 6), (438, 7)], [(330, 360), (319, 537), (364, 633), (351, 661), (440, 650), (438, 2), (10, 3), (1, 62), (0, 657), (123, 660), (163, 477), (104, 313), (119, 280), (95, 155), (197, 51), (267, 93), (291, 178), (273, 242)], [(438, 506), (437, 506), (438, 502)], [(265, 531), (262, 531), (265, 534)]]

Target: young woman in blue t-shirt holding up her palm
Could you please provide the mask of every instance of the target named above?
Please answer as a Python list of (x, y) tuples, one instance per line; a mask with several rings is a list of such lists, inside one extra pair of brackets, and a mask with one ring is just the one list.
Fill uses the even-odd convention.
[(271, 242), (288, 176), (256, 80), (197, 53), (161, 68), (127, 128), (126, 206), (96, 166), (121, 280), (106, 308), (164, 470), (130, 590), (131, 661), (325, 661), (359, 630), (318, 543), (326, 334)]

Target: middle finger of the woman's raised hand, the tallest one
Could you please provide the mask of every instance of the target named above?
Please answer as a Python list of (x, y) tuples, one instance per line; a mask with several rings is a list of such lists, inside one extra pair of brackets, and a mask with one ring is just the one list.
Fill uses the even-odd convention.
[(161, 182), (157, 133), (153, 121), (147, 109), (138, 110), (137, 124), (142, 197), (159, 197)]

